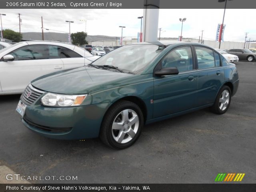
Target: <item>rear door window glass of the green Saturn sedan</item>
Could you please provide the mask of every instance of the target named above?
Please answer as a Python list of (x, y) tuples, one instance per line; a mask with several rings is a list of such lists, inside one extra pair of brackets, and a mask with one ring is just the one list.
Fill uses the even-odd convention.
[(198, 69), (215, 67), (213, 50), (204, 47), (195, 47)]

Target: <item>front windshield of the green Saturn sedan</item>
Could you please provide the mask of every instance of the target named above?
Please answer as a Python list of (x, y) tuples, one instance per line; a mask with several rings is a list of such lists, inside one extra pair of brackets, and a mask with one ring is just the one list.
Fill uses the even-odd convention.
[(102, 56), (94, 61), (93, 64), (98, 66), (112, 65), (124, 72), (138, 74), (142, 72), (165, 47), (164, 45), (153, 44), (126, 45)]

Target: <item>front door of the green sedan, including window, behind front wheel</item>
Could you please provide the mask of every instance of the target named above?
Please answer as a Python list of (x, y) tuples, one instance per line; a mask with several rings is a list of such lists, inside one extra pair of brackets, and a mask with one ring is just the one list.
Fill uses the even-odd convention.
[(154, 77), (153, 118), (194, 108), (198, 105), (196, 92), (198, 72), (193, 62), (192, 48), (182, 46), (170, 51), (158, 65), (177, 67), (178, 75)]

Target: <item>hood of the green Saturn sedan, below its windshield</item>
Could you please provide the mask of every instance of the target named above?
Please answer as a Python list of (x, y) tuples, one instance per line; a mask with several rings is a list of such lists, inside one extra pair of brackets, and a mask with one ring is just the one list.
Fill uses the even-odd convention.
[[(31, 82), (32, 86), (52, 93), (87, 94), (92, 90), (104, 90), (132, 74), (113, 72), (92, 67), (79, 67), (46, 74)], [(108, 85), (106, 85), (108, 84)]]

